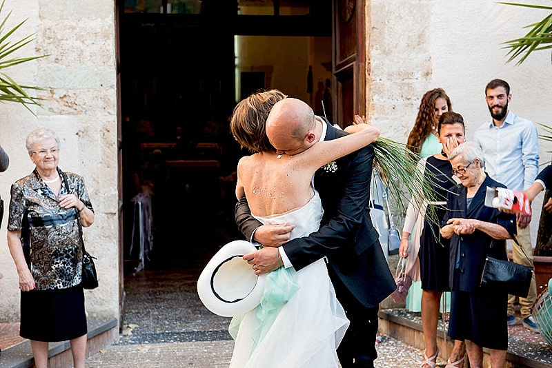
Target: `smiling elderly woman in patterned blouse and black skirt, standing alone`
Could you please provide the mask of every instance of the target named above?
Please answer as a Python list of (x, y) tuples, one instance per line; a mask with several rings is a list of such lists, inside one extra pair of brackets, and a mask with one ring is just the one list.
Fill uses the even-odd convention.
[(70, 340), (75, 368), (86, 360), (86, 315), (81, 287), (79, 221), (94, 222), (83, 178), (61, 172), (59, 138), (34, 130), (27, 150), (33, 172), (12, 185), (8, 246), (21, 289), (19, 334), (31, 340), (37, 368), (48, 365), (48, 342)]

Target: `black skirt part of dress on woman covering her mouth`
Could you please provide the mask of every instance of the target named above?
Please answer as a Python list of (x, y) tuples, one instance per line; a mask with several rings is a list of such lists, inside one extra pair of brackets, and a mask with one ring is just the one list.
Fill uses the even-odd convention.
[[(444, 217), (444, 210), (436, 209), (437, 218)], [(437, 239), (435, 239), (437, 237)], [(422, 290), (450, 292), (449, 287), (449, 239), (440, 236), (440, 228), (424, 221), (420, 236), (420, 280)]]

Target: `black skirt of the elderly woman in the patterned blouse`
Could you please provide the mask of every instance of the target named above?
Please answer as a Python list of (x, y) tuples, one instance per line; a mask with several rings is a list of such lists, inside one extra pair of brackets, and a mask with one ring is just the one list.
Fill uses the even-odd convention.
[(55, 342), (72, 340), (87, 332), (84, 291), (80, 285), (21, 292), (22, 338)]

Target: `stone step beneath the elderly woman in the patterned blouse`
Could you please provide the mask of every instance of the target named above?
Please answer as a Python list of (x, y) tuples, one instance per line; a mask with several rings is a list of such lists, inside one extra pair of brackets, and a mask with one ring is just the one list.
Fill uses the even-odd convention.
[[(97, 354), (101, 349), (112, 345), (118, 333), (118, 321), (88, 318), (88, 343), (86, 358)], [(69, 341), (50, 343), (48, 349), (48, 367), (72, 368), (71, 345)], [(29, 340), (2, 349), (0, 368), (34, 367), (34, 358)]]

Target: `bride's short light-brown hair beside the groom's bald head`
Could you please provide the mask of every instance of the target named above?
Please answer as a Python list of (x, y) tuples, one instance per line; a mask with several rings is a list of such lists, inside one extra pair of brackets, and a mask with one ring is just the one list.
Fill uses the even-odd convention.
[(275, 103), (286, 97), (279, 90), (262, 90), (239, 101), (230, 118), (230, 132), (237, 143), (251, 152), (275, 151), (266, 136), (266, 119)]

